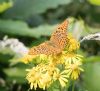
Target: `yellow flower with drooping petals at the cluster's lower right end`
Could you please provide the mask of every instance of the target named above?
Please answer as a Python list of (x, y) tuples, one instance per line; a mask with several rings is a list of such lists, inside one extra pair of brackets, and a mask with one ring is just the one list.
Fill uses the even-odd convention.
[(72, 64), (66, 65), (66, 70), (68, 71), (68, 75), (71, 77), (71, 79), (77, 79), (80, 75), (81, 71), (84, 71), (80, 66), (82, 63), (80, 61), (76, 61)]

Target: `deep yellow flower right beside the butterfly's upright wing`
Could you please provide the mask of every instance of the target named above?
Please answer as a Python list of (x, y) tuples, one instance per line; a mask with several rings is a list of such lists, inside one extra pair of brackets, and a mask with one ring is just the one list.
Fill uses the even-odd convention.
[(68, 38), (68, 42), (65, 50), (67, 50), (68, 52), (72, 52), (79, 49), (80, 44), (78, 43), (77, 40), (75, 40), (74, 37), (72, 37), (71, 34), (68, 34), (67, 38)]

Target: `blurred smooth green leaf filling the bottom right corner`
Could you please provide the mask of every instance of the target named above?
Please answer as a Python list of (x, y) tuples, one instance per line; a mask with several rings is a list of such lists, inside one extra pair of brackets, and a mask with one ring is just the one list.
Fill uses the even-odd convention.
[(87, 91), (100, 91), (100, 62), (85, 64), (83, 77), (84, 88)]

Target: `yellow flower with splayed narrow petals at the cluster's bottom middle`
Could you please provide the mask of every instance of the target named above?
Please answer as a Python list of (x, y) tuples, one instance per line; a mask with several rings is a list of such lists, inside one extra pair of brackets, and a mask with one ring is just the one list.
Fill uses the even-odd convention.
[(62, 87), (66, 86), (66, 83), (68, 82), (68, 77), (69, 76), (67, 75), (67, 70), (60, 72), (58, 68), (56, 68), (56, 71), (54, 71), (53, 74), (54, 81), (59, 80)]

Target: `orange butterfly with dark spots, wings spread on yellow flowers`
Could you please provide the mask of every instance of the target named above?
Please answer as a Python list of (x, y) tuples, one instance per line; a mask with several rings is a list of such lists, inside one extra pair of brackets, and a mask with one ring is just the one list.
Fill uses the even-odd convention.
[(64, 22), (58, 25), (56, 30), (51, 35), (49, 41), (46, 41), (38, 46), (32, 47), (28, 54), (29, 55), (57, 55), (62, 52), (67, 43), (67, 28), (68, 28), (68, 20), (66, 19)]

